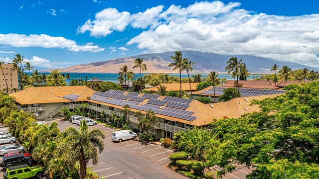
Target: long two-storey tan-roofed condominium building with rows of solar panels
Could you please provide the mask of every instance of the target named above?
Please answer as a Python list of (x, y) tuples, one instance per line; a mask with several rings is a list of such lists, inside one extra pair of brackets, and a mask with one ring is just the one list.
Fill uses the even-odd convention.
[(128, 104), (130, 128), (136, 129), (139, 120), (134, 113), (154, 111), (158, 123), (153, 134), (157, 139), (173, 137), (173, 133), (187, 131), (194, 126), (208, 126), (214, 119), (240, 117), (244, 113), (259, 111), (256, 105), (249, 105), (253, 99), (264, 99), (279, 94), (238, 97), (227, 102), (204, 104), (197, 100), (179, 97), (160, 96), (139, 92), (108, 90), (97, 92), (85, 86), (66, 87), (30, 87), (12, 93), (17, 108), (35, 113), (39, 119), (52, 119), (63, 114), (62, 108), (71, 110), (87, 103), (87, 110), (94, 117), (100, 118), (101, 113), (114, 112), (122, 116), (121, 110)]

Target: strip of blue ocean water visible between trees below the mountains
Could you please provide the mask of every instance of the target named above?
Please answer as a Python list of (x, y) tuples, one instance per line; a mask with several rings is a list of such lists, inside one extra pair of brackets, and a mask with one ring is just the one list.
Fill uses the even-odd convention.
[[(45, 73), (45, 74), (49, 74), (49, 73)], [(66, 73), (64, 73), (64, 75), (65, 74)], [(142, 77), (144, 75), (147, 75), (147, 74), (142, 73)], [(168, 74), (168, 75), (179, 77), (179, 74)], [(195, 74), (190, 74), (189, 76), (191, 77), (192, 75), (195, 75)], [(203, 77), (206, 77), (208, 74), (200, 74), (200, 75), (203, 78)], [(136, 74), (136, 76), (137, 76), (137, 78), (139, 78), (140, 74)], [(114, 73), (70, 73), (70, 80), (79, 80), (79, 79), (85, 80), (85, 77), (87, 77), (88, 80), (90, 80), (94, 77), (94, 78), (98, 78), (98, 79), (103, 80), (103, 81), (117, 82), (119, 76), (117, 74), (114, 74)], [(187, 78), (187, 74), (182, 74), (181, 77)], [(228, 80), (232, 80), (230, 75), (219, 74), (218, 77), (219, 78), (227, 78)], [(261, 75), (250, 75), (248, 79), (251, 79), (254, 77), (259, 78), (259, 77), (261, 77)], [(67, 80), (67, 83), (69, 83), (68, 80)]]

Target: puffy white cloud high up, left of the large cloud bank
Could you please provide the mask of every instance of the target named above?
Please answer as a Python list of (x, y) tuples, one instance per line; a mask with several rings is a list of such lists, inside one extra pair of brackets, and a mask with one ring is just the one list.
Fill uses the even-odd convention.
[(123, 31), (129, 24), (129, 12), (119, 12), (116, 8), (106, 8), (96, 13), (95, 20), (87, 20), (79, 26), (77, 33), (90, 31), (91, 36), (101, 37), (111, 34), (114, 30)]

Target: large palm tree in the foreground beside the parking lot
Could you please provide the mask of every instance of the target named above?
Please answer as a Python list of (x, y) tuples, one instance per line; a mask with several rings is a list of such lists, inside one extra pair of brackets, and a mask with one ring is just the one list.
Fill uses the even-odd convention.
[[(60, 156), (66, 154), (67, 161), (74, 164), (79, 161), (80, 179), (86, 179), (86, 168), (90, 159), (93, 165), (98, 163), (98, 150), (102, 153), (104, 150), (105, 134), (100, 129), (89, 130), (85, 120), (80, 121), (80, 129), (74, 127), (67, 127), (63, 135), (65, 138), (60, 141), (57, 147), (57, 153)], [(101, 139), (102, 138), (102, 139)]]

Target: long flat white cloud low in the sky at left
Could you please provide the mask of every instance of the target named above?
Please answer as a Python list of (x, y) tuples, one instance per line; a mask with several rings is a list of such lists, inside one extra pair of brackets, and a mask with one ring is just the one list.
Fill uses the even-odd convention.
[(46, 34), (0, 34), (0, 44), (10, 45), (12, 47), (65, 48), (73, 52), (101, 52), (105, 50), (105, 48), (101, 48), (97, 45), (77, 45), (74, 40), (64, 37), (52, 37)]

